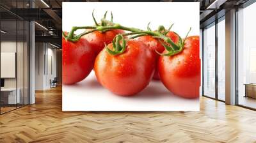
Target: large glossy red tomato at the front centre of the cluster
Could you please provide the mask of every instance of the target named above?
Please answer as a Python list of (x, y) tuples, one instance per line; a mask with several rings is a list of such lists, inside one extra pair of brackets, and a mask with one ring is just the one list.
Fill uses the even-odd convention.
[[(113, 56), (103, 49), (95, 59), (94, 71), (100, 84), (112, 93), (131, 96), (144, 89), (152, 79), (155, 57), (141, 41), (127, 41), (127, 49)], [(112, 43), (108, 45), (113, 49)]]

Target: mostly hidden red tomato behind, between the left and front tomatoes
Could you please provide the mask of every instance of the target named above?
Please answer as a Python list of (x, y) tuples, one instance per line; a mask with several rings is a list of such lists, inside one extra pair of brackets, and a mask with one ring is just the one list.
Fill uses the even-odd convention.
[(93, 33), (86, 34), (83, 37), (89, 41), (91, 47), (97, 55), (102, 49), (104, 49), (105, 44), (108, 45), (109, 43), (111, 43), (115, 38), (116, 34), (121, 33), (124, 33), (124, 31), (120, 29), (113, 29), (104, 33), (100, 31), (94, 31)]

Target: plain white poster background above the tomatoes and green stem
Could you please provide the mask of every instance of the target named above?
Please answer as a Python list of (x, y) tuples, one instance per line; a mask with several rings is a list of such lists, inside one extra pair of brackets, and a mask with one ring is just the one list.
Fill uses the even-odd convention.
[(105, 11), (107, 19), (128, 27), (147, 29), (148, 22), (152, 30), (163, 25), (166, 29), (174, 23), (172, 30), (182, 38), (192, 27), (190, 35), (199, 35), (199, 2), (195, 3), (168, 3), (168, 2), (136, 2), (136, 3), (63, 3), (62, 29), (70, 31), (72, 26), (93, 26), (92, 11), (97, 22), (100, 22)]

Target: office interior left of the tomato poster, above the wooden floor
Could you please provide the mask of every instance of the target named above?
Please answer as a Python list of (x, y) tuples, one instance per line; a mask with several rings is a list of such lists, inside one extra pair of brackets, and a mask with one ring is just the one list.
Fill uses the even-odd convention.
[(41, 1), (0, 4), (0, 114), (4, 114), (34, 104), (35, 91), (61, 85), (61, 24), (38, 10), (46, 6)]

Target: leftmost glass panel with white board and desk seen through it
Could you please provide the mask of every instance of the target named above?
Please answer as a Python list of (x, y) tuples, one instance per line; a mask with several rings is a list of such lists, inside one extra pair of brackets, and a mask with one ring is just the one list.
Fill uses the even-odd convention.
[(16, 63), (17, 21), (1, 21), (1, 114), (16, 109), (20, 100)]

